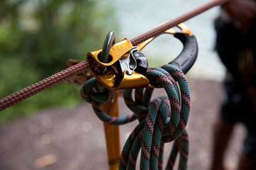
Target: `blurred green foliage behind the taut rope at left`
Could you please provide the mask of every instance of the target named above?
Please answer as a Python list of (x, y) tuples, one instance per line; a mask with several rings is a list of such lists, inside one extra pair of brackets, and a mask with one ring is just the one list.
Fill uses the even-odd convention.
[[(1, 0), (0, 98), (65, 69), (67, 59), (84, 60), (115, 28), (111, 1)], [(1, 111), (0, 123), (49, 106), (82, 101), (79, 87), (61, 83)]]

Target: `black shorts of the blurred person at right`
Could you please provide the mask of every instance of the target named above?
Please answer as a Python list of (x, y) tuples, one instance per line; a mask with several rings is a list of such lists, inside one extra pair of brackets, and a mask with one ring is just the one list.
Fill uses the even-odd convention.
[(246, 94), (237, 87), (239, 85), (236, 83), (225, 81), (225, 96), (220, 114), (228, 122), (241, 122), (246, 126), (247, 134), (244, 139), (243, 152), (256, 160), (256, 114)]

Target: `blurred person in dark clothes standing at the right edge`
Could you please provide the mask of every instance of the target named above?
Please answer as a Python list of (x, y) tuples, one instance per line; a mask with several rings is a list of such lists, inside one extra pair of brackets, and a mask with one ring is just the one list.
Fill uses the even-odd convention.
[(216, 50), (227, 68), (225, 97), (214, 123), (211, 170), (223, 161), (232, 131), (241, 122), (247, 134), (237, 169), (256, 169), (256, 0), (230, 0), (215, 22)]

